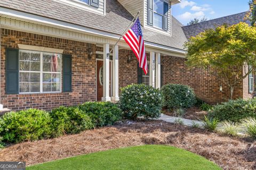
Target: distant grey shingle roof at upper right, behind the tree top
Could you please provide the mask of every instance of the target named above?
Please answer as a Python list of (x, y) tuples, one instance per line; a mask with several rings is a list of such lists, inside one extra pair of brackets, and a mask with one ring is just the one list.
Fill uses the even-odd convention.
[(228, 15), (228, 16), (223, 16), (221, 18), (213, 19), (213, 20), (208, 20), (204, 22), (199, 22), (196, 24), (191, 24), (182, 27), (185, 35), (187, 38), (193, 37), (198, 35), (198, 33), (205, 31), (206, 29), (211, 29), (218, 27), (222, 24), (228, 24), (228, 25), (234, 25), (239, 22), (246, 22), (250, 24), (248, 20), (245, 20), (245, 15), (247, 12), (242, 12), (234, 15)]

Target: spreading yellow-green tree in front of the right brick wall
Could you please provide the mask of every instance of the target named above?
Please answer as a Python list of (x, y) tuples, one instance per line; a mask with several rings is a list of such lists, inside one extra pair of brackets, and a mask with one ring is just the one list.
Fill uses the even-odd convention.
[(185, 48), (187, 65), (220, 78), (230, 88), (230, 99), (234, 87), (256, 68), (256, 28), (243, 22), (201, 32)]

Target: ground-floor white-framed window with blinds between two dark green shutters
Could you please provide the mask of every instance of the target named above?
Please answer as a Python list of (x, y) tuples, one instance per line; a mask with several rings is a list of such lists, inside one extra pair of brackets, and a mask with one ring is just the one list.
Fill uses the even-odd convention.
[(61, 54), (20, 50), (19, 92), (61, 92)]

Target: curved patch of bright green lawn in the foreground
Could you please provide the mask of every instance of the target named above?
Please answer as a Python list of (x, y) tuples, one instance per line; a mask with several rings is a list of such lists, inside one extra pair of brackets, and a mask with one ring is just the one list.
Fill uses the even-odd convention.
[(221, 169), (189, 151), (162, 145), (113, 149), (30, 166), (39, 169)]

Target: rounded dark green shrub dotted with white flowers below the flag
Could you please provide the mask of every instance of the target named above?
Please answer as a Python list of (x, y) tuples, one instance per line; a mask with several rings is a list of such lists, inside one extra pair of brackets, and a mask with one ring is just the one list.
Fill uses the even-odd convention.
[(119, 105), (127, 118), (158, 118), (161, 115), (162, 95), (160, 90), (151, 86), (133, 84), (121, 88)]

